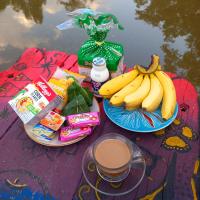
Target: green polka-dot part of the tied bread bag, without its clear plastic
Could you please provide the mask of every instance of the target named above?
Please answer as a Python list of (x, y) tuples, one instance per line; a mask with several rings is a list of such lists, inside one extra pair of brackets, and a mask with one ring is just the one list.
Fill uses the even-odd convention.
[(110, 29), (123, 29), (117, 18), (112, 14), (81, 14), (75, 17), (75, 24), (85, 29), (90, 37), (78, 51), (78, 64), (91, 67), (95, 57), (103, 57), (108, 70), (117, 71), (124, 53), (123, 47), (121, 44), (105, 41)]

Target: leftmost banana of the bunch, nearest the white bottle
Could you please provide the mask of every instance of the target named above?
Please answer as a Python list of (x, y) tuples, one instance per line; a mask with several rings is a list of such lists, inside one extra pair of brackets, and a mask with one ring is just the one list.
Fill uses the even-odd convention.
[(138, 70), (133, 69), (130, 72), (117, 76), (110, 81), (104, 83), (99, 89), (101, 96), (110, 96), (121, 90), (127, 84), (129, 84), (138, 75)]

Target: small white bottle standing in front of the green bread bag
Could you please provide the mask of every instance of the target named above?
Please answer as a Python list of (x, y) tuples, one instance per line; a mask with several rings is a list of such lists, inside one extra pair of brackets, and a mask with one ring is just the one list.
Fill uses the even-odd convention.
[(94, 95), (100, 96), (98, 90), (109, 79), (109, 71), (104, 58), (96, 57), (93, 59), (90, 77)]

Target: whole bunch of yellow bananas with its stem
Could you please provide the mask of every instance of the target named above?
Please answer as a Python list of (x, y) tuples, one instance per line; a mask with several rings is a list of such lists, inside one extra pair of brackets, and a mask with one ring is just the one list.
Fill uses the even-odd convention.
[(159, 56), (152, 55), (148, 69), (135, 65), (133, 70), (106, 82), (99, 90), (113, 106), (125, 105), (127, 110), (142, 107), (155, 111), (162, 103), (162, 118), (172, 117), (176, 107), (176, 91), (171, 78), (161, 71)]

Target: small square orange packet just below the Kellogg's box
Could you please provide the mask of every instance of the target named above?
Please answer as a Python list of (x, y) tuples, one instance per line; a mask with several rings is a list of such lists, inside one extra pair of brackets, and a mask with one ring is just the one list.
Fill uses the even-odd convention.
[(65, 117), (56, 112), (50, 111), (41, 121), (40, 124), (57, 131), (65, 121)]

